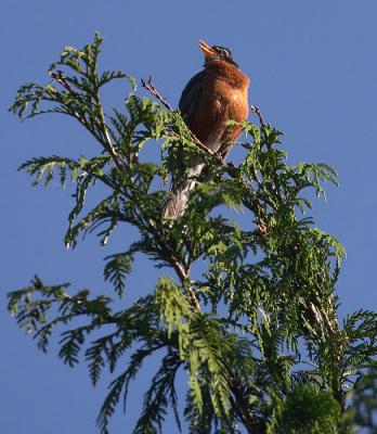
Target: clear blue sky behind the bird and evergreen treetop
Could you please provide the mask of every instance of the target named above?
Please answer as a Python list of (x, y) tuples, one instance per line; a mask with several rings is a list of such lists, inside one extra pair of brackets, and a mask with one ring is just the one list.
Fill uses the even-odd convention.
[[(25, 286), (35, 273), (47, 283), (69, 281), (75, 291), (105, 291), (102, 259), (131, 237), (123, 229), (105, 250), (94, 238), (74, 252), (65, 250), (69, 190), (32, 188), (16, 168), (31, 156), (93, 153), (95, 144), (67, 118), (21, 124), (6, 113), (17, 87), (46, 82), (48, 66), (65, 44), (81, 47), (100, 30), (103, 67), (138, 80), (153, 73), (176, 105), (183, 86), (202, 68), (198, 39), (231, 48), (251, 78), (250, 103), (286, 132), (289, 161), (326, 162), (338, 169), (340, 188), (329, 187), (327, 203), (317, 201), (313, 215), (348, 252), (338, 284), (341, 314), (375, 310), (376, 16), (376, 0), (1, 0), (1, 433), (96, 432), (109, 378), (93, 390), (84, 365), (64, 366), (54, 345), (49, 355), (39, 353), (6, 315), (5, 294)], [(125, 94), (117, 87), (106, 94), (107, 104), (120, 105)], [(139, 258), (129, 293), (152, 290), (160, 272)], [(131, 433), (153, 365), (133, 386), (126, 417), (119, 407), (112, 433)], [(169, 421), (166, 433), (174, 432)]]

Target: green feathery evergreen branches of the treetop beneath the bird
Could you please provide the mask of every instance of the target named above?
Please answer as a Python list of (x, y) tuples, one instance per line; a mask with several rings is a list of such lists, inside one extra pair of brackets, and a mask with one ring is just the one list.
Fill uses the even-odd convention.
[[(126, 74), (100, 73), (101, 44), (95, 35), (82, 50), (65, 48), (49, 69), (50, 82), (23, 86), (11, 110), (22, 119), (68, 115), (95, 138), (94, 157), (53, 155), (20, 168), (35, 184), (73, 182), (67, 247), (92, 231), (103, 246), (119, 225), (136, 229), (136, 241), (105, 257), (104, 279), (125, 299), (92, 297), (89, 290), (72, 295), (68, 284), (50, 286), (35, 278), (9, 294), (18, 326), (43, 352), (63, 326), (58, 357), (65, 363), (84, 359), (93, 385), (103, 369), (117, 375), (98, 417), (102, 433), (109, 432), (110, 417), (148, 357), (159, 366), (133, 433), (164, 432), (169, 408), (182, 431), (184, 409), (193, 434), (351, 433), (358, 424), (369, 426), (369, 419), (360, 418), (376, 401), (365, 398), (366, 411), (358, 399), (376, 390), (365, 369), (377, 353), (377, 314), (361, 310), (340, 324), (334, 291), (346, 253), (304, 216), (311, 209), (308, 189), (325, 196), (324, 183), (337, 182), (335, 170), (323, 163), (288, 165), (283, 133), (264, 123), (243, 124), (248, 142), (238, 166), (219, 161), (198, 146), (179, 111), (139, 97)], [(131, 91), (121, 108), (104, 113), (100, 91), (115, 79), (127, 79)], [(160, 149), (153, 162), (145, 162), (145, 146)], [(165, 184), (170, 175), (176, 182), (184, 174), (193, 153), (206, 169), (184, 216), (165, 221)], [(88, 210), (86, 196), (98, 183), (106, 195)], [(235, 221), (226, 208), (243, 218)], [(125, 280), (136, 254), (164, 267), (165, 277), (129, 303), (132, 288), (126, 292)], [(193, 272), (197, 264), (200, 271)], [(176, 390), (182, 374), (185, 398)], [(349, 399), (356, 410), (347, 410)]]

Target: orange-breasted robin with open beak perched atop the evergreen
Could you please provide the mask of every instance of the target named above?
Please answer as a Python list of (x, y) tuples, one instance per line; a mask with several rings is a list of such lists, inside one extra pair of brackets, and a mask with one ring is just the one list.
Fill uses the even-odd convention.
[[(184, 87), (179, 108), (193, 135), (213, 154), (224, 159), (233, 142), (242, 132), (240, 124), (248, 116), (249, 78), (233, 60), (225, 47), (210, 47), (199, 40), (205, 63), (204, 69), (194, 75)], [(229, 120), (237, 124), (229, 125)], [(179, 169), (181, 149), (177, 154), (178, 169), (172, 174), (170, 199), (165, 206), (164, 218), (178, 220), (187, 207), (190, 192), (194, 189), (205, 162), (193, 153), (186, 170)]]

